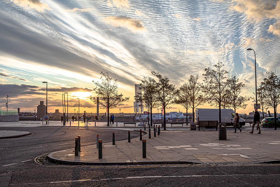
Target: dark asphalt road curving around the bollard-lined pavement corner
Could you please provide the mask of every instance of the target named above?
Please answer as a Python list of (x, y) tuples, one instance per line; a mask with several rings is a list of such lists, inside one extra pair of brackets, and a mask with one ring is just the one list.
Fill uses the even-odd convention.
[[(279, 164), (254, 165), (143, 165), (50, 166), (34, 158), (44, 153), (73, 148), (81, 135), (82, 146), (92, 145), (96, 134), (110, 142), (127, 138), (126, 130), (95, 128), (3, 128), (34, 133), (0, 142), (0, 186), (279, 186)], [(132, 132), (132, 135), (139, 134)], [(112, 153), (114, 154), (114, 153)], [(25, 161), (25, 162), (23, 162)], [(9, 165), (13, 164), (13, 165)], [(3, 166), (8, 165), (8, 166)]]

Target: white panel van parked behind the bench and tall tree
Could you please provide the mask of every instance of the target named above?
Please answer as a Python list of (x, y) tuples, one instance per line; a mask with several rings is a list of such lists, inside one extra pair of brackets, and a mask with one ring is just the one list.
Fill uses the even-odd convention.
[[(235, 112), (232, 109), (221, 109), (221, 123), (233, 125)], [(212, 108), (196, 108), (195, 109), (195, 123), (198, 121), (218, 121), (219, 122), (219, 109)], [(245, 120), (240, 118), (239, 125), (245, 125)]]

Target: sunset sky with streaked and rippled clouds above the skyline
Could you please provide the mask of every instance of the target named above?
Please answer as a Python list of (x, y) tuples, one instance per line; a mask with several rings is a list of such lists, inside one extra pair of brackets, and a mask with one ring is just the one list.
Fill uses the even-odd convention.
[[(2, 0), (0, 108), (8, 94), (8, 109), (34, 111), (46, 102), (47, 81), (48, 112), (62, 111), (63, 92), (69, 112), (78, 97), (80, 111), (96, 112), (92, 81), (108, 72), (130, 97), (110, 111), (133, 112), (134, 84), (151, 71), (178, 88), (190, 75), (202, 81), (218, 60), (245, 84), (241, 94), (252, 96), (255, 59), (247, 48), (256, 52), (258, 83), (267, 70), (280, 75), (280, 1)], [(251, 112), (247, 103), (237, 112)]]

